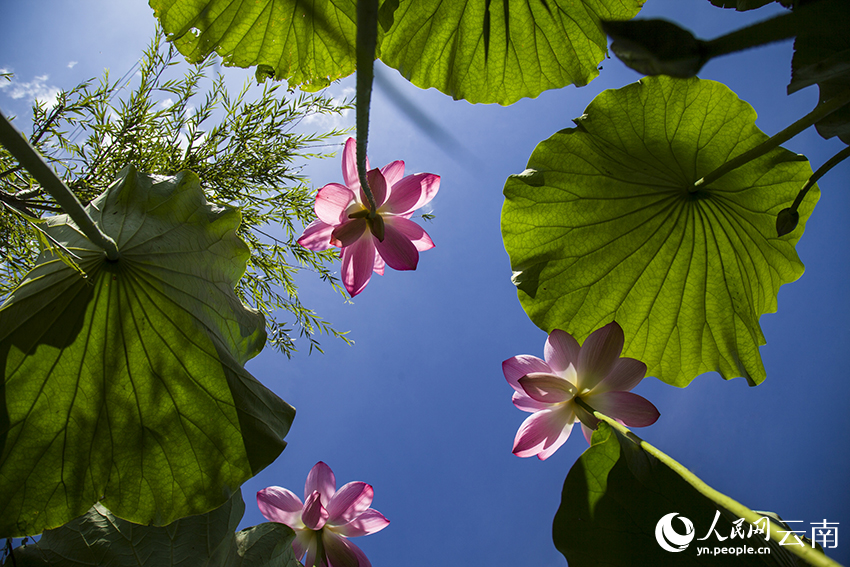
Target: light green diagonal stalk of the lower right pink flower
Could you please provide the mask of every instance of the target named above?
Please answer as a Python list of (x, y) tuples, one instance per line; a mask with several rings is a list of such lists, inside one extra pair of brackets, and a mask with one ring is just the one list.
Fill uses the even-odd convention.
[[(593, 417), (600, 421), (604, 421), (614, 429), (616, 429), (619, 433), (629, 439), (632, 443), (639, 446), (642, 450), (646, 451), (665, 465), (667, 465), (673, 472), (678, 474), (682, 479), (690, 484), (697, 492), (717, 504), (718, 506), (722, 506), (726, 508), (739, 518), (743, 518), (747, 522), (755, 525), (756, 522), (760, 521), (762, 516), (757, 512), (750, 510), (740, 502), (726, 496), (722, 492), (718, 492), (717, 490), (708, 486), (702, 479), (696, 476), (694, 473), (685, 468), (684, 465), (661, 451), (656, 447), (653, 447), (640, 437), (638, 437), (634, 432), (632, 432), (629, 428), (622, 425), (617, 420), (608, 417), (607, 415), (593, 409), (590, 407), (587, 402), (582, 400), (581, 398), (575, 398), (575, 401), (582, 408), (593, 414)], [(785, 537), (785, 532), (780, 530), (778, 527), (774, 526), (773, 522), (768, 523), (769, 527), (769, 535), (772, 540), (779, 543)], [(797, 546), (791, 545), (788, 546), (788, 550), (794, 555), (800, 557), (810, 565), (815, 565), (816, 567), (841, 567), (840, 563), (833, 561), (817, 549), (813, 547), (806, 546)]]

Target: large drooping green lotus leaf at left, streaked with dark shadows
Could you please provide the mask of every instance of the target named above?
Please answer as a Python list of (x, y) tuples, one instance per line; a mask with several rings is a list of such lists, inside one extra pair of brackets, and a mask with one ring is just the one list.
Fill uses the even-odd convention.
[(88, 206), (110, 262), (64, 215), (0, 309), (0, 535), (64, 524), (102, 501), (165, 525), (221, 505), (283, 450), (294, 410), (243, 364), (263, 317), (234, 286), (249, 251), (240, 214), (191, 172), (125, 168)]

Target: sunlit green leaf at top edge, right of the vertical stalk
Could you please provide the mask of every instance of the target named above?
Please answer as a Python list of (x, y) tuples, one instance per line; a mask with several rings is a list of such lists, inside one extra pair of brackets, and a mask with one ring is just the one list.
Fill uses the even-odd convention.
[(593, 80), (608, 47), (600, 20), (633, 18), (644, 1), (401, 1), (380, 59), (416, 86), (511, 104)]

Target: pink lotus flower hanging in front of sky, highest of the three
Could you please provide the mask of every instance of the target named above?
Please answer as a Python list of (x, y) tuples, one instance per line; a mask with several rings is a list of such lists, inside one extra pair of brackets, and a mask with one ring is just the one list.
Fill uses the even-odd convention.
[(310, 250), (342, 248), (342, 283), (351, 297), (363, 291), (373, 271), (383, 275), (385, 264), (394, 270), (415, 270), (419, 252), (434, 247), (410, 216), (440, 188), (440, 176), (433, 173), (404, 177), (403, 161), (369, 170), (367, 160), (367, 181), (377, 206), (372, 215), (357, 176), (356, 149), (357, 143), (349, 138), (342, 152), (345, 185), (328, 183), (319, 189), (318, 218), (298, 239)]

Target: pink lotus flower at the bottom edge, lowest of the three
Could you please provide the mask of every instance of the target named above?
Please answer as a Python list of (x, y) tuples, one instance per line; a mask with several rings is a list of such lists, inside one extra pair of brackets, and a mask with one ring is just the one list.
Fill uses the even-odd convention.
[(372, 487), (349, 482), (339, 490), (331, 468), (319, 461), (304, 484), (304, 502), (291, 491), (270, 486), (257, 492), (257, 506), (272, 522), (295, 531), (292, 550), (304, 567), (371, 567), (359, 547), (346, 538), (381, 531), (390, 521), (372, 504)]

